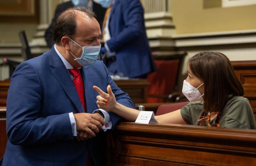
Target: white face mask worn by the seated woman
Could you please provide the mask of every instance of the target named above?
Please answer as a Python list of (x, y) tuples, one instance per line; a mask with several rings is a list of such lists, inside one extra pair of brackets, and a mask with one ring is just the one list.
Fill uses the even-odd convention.
[[(202, 86), (203, 84), (204, 83), (202, 83), (200, 86)], [(204, 94), (201, 95), (198, 88), (195, 88), (190, 83), (188, 83), (186, 80), (184, 80), (182, 93), (188, 98), (189, 101), (203, 101)]]

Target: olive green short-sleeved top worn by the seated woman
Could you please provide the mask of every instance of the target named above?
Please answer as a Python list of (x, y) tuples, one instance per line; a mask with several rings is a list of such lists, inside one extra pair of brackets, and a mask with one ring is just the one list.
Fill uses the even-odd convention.
[[(204, 101), (189, 103), (180, 109), (180, 113), (188, 125), (199, 125), (197, 120), (201, 119), (200, 116), (208, 115), (204, 112)], [(209, 124), (212, 126), (215, 120), (216, 117)], [(220, 117), (220, 127), (256, 129), (249, 100), (242, 96), (230, 96)]]

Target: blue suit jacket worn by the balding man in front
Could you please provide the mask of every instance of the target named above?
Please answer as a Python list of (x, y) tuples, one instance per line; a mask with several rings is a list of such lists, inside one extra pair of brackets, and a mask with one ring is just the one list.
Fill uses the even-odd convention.
[[(102, 61), (82, 68), (86, 111), (96, 110), (96, 85), (107, 85), (117, 102), (134, 108), (130, 97), (120, 90)], [(85, 165), (88, 148), (96, 166), (103, 165), (104, 132), (88, 141), (72, 136), (69, 112), (84, 112), (75, 86), (54, 47), (43, 55), (21, 63), (8, 90), (6, 129), (8, 142), (3, 165)], [(113, 127), (120, 119), (109, 112)], [(103, 154), (101, 154), (103, 153)], [(104, 157), (103, 157), (104, 158)]]

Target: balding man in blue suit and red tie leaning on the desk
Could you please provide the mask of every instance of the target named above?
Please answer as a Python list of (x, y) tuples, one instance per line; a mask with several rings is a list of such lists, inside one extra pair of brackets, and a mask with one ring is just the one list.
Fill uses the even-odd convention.
[[(16, 68), (8, 90), (9, 140), (2, 165), (105, 165), (101, 129), (113, 129), (120, 117), (97, 110), (98, 93), (92, 86), (106, 91), (111, 85), (118, 103), (135, 106), (113, 82), (103, 62), (96, 61), (100, 35), (93, 13), (74, 7), (57, 19), (52, 49)], [(81, 75), (73, 76), (73, 70)], [(73, 83), (75, 77), (81, 77), (77, 83), (82, 81), (84, 99)]]

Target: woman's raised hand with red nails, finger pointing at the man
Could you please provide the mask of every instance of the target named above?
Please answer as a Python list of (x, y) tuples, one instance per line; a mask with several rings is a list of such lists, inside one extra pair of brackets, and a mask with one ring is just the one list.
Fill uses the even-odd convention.
[(99, 96), (96, 97), (98, 99), (96, 102), (98, 107), (103, 110), (112, 111), (116, 106), (116, 97), (112, 92), (110, 85), (107, 87), (108, 93), (103, 92), (97, 86), (93, 86), (93, 89), (99, 93)]

